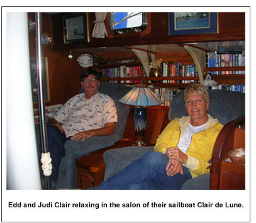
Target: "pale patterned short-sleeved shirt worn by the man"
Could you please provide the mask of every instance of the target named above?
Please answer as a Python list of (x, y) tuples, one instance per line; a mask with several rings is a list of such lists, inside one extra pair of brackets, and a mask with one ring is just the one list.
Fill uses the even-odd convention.
[(62, 123), (66, 137), (77, 132), (103, 128), (106, 123), (117, 122), (114, 101), (108, 95), (97, 93), (87, 100), (84, 93), (70, 98), (53, 116)]

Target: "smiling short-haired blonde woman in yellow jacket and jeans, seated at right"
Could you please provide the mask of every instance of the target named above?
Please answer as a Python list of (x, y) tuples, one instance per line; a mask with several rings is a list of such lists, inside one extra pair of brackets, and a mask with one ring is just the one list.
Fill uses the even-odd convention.
[(204, 86), (184, 91), (189, 116), (175, 118), (157, 138), (154, 152), (128, 165), (95, 189), (181, 189), (186, 180), (207, 169), (221, 125), (207, 113), (209, 95)]

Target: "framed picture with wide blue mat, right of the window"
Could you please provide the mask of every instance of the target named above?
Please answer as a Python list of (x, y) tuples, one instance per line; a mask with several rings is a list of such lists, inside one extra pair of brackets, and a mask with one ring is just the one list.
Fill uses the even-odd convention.
[(218, 13), (169, 13), (169, 35), (218, 33)]

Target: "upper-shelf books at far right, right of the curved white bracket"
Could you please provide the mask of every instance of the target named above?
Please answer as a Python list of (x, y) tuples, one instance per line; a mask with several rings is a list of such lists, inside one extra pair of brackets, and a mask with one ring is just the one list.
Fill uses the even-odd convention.
[[(242, 53), (206, 53), (206, 67), (245, 66), (245, 54)], [(245, 71), (211, 71), (213, 75), (245, 74)]]

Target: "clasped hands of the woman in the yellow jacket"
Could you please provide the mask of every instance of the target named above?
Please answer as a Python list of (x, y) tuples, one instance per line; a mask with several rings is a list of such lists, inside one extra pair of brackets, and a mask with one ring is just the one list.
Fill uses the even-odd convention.
[(175, 174), (182, 174), (182, 163), (187, 163), (187, 155), (178, 147), (166, 148), (166, 155), (169, 162), (166, 165), (167, 175), (173, 176)]

